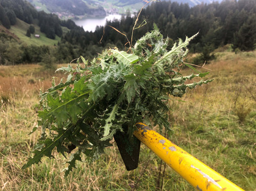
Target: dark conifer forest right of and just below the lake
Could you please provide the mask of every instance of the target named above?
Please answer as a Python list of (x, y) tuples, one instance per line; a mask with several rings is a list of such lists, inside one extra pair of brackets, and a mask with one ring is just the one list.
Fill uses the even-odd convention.
[[(199, 32), (191, 42), (192, 52), (212, 51), (219, 46), (232, 44), (233, 50), (253, 50), (256, 44), (256, 1), (223, 1), (221, 4), (201, 4), (189, 7), (188, 4), (177, 2), (155, 2), (141, 12), (138, 23), (146, 21), (146, 25), (135, 30), (134, 39), (144, 35), (156, 23), (164, 36), (172, 40), (185, 38)], [(132, 33), (135, 18), (127, 16), (121, 21), (108, 22), (127, 36)], [(138, 24), (138, 25), (139, 25)], [(63, 41), (78, 44), (85, 52), (94, 49), (93, 44), (107, 47), (115, 44), (119, 48), (127, 43), (126, 38), (110, 27), (106, 27), (102, 44), (99, 44), (103, 27), (98, 27), (94, 33), (71, 30), (63, 37)]]

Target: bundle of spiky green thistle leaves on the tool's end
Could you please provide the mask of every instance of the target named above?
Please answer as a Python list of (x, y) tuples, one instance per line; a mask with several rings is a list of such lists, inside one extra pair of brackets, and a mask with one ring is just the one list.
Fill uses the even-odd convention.
[(110, 140), (117, 131), (127, 131), (132, 137), (137, 122), (154, 123), (160, 130), (169, 130), (169, 95), (182, 97), (187, 88), (211, 81), (187, 84), (187, 80), (205, 77), (208, 72), (188, 76), (179, 72), (193, 38), (179, 40), (168, 51), (168, 38), (163, 40), (154, 26), (129, 53), (107, 49), (90, 64), (80, 57), (76, 68), (69, 64), (58, 69), (68, 77), (58, 85), (53, 82), (52, 88), (41, 94), (41, 138), (34, 156), (23, 168), (38, 164), (43, 156), (52, 158), (52, 151), (57, 148), (65, 157), (72, 151), (65, 172), (68, 175), (76, 161), (81, 161), (82, 153), (98, 158), (104, 148), (111, 146)]

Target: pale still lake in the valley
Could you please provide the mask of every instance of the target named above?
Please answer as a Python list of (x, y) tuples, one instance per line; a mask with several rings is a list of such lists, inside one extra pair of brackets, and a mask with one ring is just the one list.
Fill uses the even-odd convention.
[(121, 19), (121, 15), (108, 15), (104, 18), (84, 18), (84, 19), (78, 19), (73, 20), (74, 23), (76, 23), (77, 26), (83, 27), (85, 31), (92, 31), (96, 29), (96, 26), (105, 26), (107, 20), (113, 21), (114, 19)]

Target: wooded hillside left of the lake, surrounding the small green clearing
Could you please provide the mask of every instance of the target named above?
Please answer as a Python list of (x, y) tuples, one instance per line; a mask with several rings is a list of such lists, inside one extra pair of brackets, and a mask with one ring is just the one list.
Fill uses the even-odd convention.
[[(22, 40), (21, 36), (19, 38), (10, 32), (12, 26), (23, 33)], [(62, 37), (63, 28), (68, 30), (75, 27), (76, 24), (71, 20), (62, 21), (57, 15), (37, 12), (27, 1), (0, 0), (0, 64), (39, 63), (44, 55), (52, 54), (56, 48), (38, 46), (41, 44), (39, 39), (38, 43), (36, 41), (28, 45), (27, 41), (35, 35), (35, 29), (38, 28), (46, 38), (54, 40), (56, 36), (59, 36), (59, 39)]]

